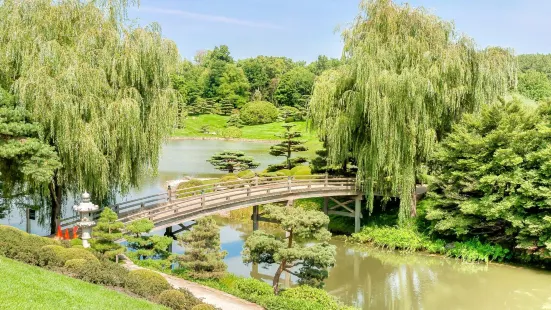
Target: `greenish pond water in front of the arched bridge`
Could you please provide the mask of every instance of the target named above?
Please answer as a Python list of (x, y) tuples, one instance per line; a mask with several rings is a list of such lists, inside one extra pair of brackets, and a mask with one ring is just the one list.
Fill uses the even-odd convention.
[[(244, 240), (252, 222), (218, 218), (222, 248), (232, 273), (271, 283), (277, 266), (245, 265)], [(260, 229), (274, 231), (260, 224)], [(551, 309), (551, 273), (497, 264), (462, 263), (422, 254), (355, 247), (340, 240), (335, 266), (325, 289), (348, 305), (362, 309)], [(174, 243), (174, 252), (182, 248)], [(282, 276), (285, 284), (285, 275)], [(292, 283), (296, 280), (291, 277)], [(288, 282), (287, 282), (288, 283)]]

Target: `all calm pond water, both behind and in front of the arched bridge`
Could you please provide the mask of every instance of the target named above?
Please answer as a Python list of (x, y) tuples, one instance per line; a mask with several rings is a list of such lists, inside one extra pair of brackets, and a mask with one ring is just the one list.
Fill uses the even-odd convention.
[[(166, 181), (185, 175), (214, 177), (221, 173), (205, 160), (223, 150), (242, 150), (254, 156), (264, 169), (281, 158), (268, 155), (269, 144), (211, 140), (174, 140), (163, 148), (159, 174), (144, 180), (125, 199), (157, 193)], [(72, 201), (68, 206), (72, 206)], [(67, 208), (69, 209), (69, 208)], [(65, 214), (70, 214), (66, 210)], [(228, 251), (225, 261), (230, 272), (271, 280), (276, 266), (245, 265), (241, 250), (252, 232), (251, 222), (219, 218), (222, 247)], [(25, 229), (18, 212), (0, 220)], [(261, 229), (273, 225), (261, 223)], [(33, 233), (46, 231), (32, 226)], [(161, 231), (155, 232), (162, 234)], [(356, 248), (334, 240), (337, 262), (330, 270), (325, 289), (349, 305), (363, 309), (551, 309), (551, 273), (501, 265), (466, 264), (457, 260), (424, 255), (400, 255), (373, 249)], [(182, 249), (175, 243), (174, 252)], [(289, 277), (283, 283), (292, 285)]]

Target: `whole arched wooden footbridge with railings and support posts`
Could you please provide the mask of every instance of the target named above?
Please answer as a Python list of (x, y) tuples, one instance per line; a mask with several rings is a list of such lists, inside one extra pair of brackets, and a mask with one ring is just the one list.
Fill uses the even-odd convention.
[[(155, 229), (180, 225), (197, 218), (253, 206), (253, 225), (256, 229), (262, 220), (259, 205), (293, 201), (302, 198), (324, 197), (324, 212), (355, 218), (355, 230), (360, 229), (362, 193), (354, 178), (309, 175), (296, 177), (269, 177), (241, 179), (229, 182), (201, 185), (173, 190), (128, 200), (109, 206), (119, 216), (119, 221), (130, 223), (147, 218)], [(346, 201), (337, 197), (347, 197)], [(334, 205), (329, 208), (329, 200)], [(354, 203), (353, 207), (348, 206)], [(101, 210), (100, 210), (101, 211)], [(100, 212), (93, 215), (99, 216)], [(61, 220), (63, 228), (71, 227), (77, 216)]]

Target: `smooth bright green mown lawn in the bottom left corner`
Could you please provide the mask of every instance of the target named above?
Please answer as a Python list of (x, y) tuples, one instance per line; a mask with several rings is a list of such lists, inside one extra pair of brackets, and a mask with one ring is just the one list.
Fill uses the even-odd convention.
[(0, 256), (0, 309), (167, 309)]

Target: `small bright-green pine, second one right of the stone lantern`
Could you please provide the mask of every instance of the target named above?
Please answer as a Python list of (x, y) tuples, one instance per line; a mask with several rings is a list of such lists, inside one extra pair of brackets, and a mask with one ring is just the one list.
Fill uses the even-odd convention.
[(126, 237), (127, 247), (140, 256), (166, 258), (172, 237), (147, 235), (153, 227), (155, 225), (149, 219), (140, 219), (126, 225), (126, 231), (130, 233)]

